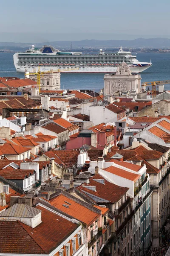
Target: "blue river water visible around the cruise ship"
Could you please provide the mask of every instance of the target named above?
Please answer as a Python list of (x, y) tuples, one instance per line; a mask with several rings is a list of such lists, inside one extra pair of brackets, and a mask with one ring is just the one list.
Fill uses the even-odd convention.
[[(0, 77), (17, 76), (24, 78), (24, 73), (17, 73), (11, 52), (0, 53)], [(142, 82), (170, 80), (170, 53), (138, 53), (139, 61), (153, 63), (152, 67), (141, 73)], [(61, 89), (91, 89), (99, 91), (104, 87), (104, 73), (62, 73)], [(170, 84), (165, 85), (170, 90)]]

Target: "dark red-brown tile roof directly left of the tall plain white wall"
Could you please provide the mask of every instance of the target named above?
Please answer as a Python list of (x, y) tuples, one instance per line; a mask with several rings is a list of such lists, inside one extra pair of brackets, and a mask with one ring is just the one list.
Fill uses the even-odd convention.
[[(104, 180), (104, 184), (99, 183), (95, 181), (95, 179), (102, 179)], [(86, 187), (84, 187), (86, 186)], [(96, 186), (96, 191), (91, 190), (90, 188), (88, 189), (88, 186)], [(95, 195), (98, 197), (98, 202), (100, 202), (99, 198), (102, 198), (106, 201), (110, 201), (112, 203), (115, 203), (119, 201), (123, 195), (128, 191), (129, 188), (117, 186), (111, 182), (108, 182), (105, 180), (101, 175), (94, 175), (93, 177), (90, 178), (90, 183), (83, 183), (77, 189), (81, 190), (82, 192), (88, 192), (91, 195)], [(87, 195), (87, 194), (86, 194)], [(103, 201), (103, 200), (101, 200)]]

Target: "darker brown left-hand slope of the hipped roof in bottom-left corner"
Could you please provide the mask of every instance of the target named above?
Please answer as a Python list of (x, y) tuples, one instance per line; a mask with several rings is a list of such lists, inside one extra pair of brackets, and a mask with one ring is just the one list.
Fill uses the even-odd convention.
[(19, 221), (0, 221), (0, 238), (1, 253), (45, 254)]

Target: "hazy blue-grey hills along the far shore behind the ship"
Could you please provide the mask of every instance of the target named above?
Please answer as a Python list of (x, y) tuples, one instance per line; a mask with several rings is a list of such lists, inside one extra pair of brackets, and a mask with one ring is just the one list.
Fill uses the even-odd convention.
[[(26, 49), (28, 46), (34, 44), (30, 43), (12, 43), (12, 42), (0, 42), (0, 48), (8, 49), (9, 47), (23, 48)], [(54, 42), (44, 42), (35, 44), (35, 47), (41, 47), (43, 44), (51, 44), (54, 47), (72, 47), (75, 49), (77, 47), (154, 47), (154, 48), (170, 48), (169, 38), (137, 38), (135, 40), (82, 40), (82, 41), (54, 41)], [(8, 46), (8, 48), (7, 48)]]

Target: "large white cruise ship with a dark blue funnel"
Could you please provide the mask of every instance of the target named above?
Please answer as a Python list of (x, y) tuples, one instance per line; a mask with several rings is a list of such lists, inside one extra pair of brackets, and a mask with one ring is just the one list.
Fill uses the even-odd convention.
[(84, 54), (82, 52), (61, 52), (51, 45), (44, 45), (36, 49), (34, 45), (26, 52), (13, 55), (14, 66), (17, 72), (32, 70), (60, 71), (65, 73), (114, 73), (124, 61), (134, 73), (140, 73), (152, 66), (151, 62), (140, 62), (136, 55), (123, 51), (105, 53), (102, 49), (99, 54)]

